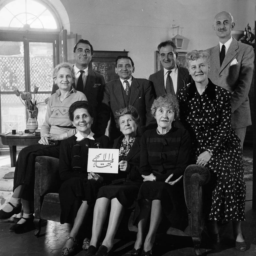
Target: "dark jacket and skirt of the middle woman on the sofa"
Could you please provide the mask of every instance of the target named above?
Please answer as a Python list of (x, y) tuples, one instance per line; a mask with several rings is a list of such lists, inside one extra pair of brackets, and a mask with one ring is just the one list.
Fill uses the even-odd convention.
[[(115, 139), (113, 148), (119, 149), (123, 138), (124, 136), (122, 135)], [(135, 206), (135, 200), (143, 181), (139, 173), (140, 150), (141, 137), (136, 137), (124, 159), (128, 162), (129, 169), (126, 172), (121, 172), (118, 169), (118, 174), (115, 175), (112, 184), (99, 189), (97, 199), (100, 197), (106, 197), (110, 200), (117, 198), (119, 203), (125, 208), (133, 208)]]

